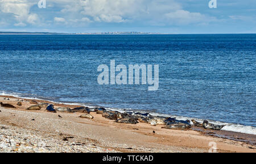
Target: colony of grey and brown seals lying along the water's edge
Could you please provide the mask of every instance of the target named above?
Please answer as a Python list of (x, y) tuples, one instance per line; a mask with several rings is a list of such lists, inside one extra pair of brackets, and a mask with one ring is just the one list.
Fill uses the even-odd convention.
[[(70, 109), (69, 107), (58, 107), (54, 109), (54, 105), (49, 103), (38, 103), (34, 100), (30, 101), (30, 103), (34, 103), (36, 105), (32, 105), (27, 108), (27, 110), (41, 110), (42, 108), (46, 108), (48, 112), (56, 113), (56, 111), (67, 112), (67, 113), (83, 113), (80, 115), (80, 118), (88, 118), (93, 119), (93, 116), (90, 115), (90, 112), (96, 112), (97, 114), (101, 114), (104, 118), (114, 120), (117, 123), (126, 123), (126, 124), (137, 124), (141, 123), (148, 123), (152, 126), (162, 125), (164, 127), (171, 130), (188, 130), (191, 128), (191, 122), (195, 127), (203, 127), (208, 130), (221, 130), (225, 125), (217, 125), (209, 123), (208, 120), (204, 120), (203, 123), (199, 123), (196, 120), (177, 120), (176, 118), (172, 117), (163, 117), (163, 116), (153, 116), (150, 113), (135, 113), (130, 111), (125, 111), (121, 113), (119, 111), (110, 111), (106, 110), (104, 107), (75, 107)], [(22, 103), (18, 102), (17, 105), (21, 106)], [(15, 106), (9, 103), (2, 103), (2, 107), (9, 107), (16, 109)]]

